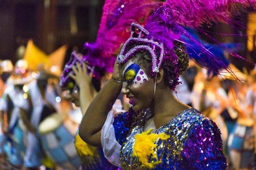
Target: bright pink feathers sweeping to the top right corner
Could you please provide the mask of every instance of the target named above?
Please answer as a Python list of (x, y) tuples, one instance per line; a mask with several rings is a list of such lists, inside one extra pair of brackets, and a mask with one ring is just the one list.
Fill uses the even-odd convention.
[[(237, 14), (240, 7), (256, 4), (256, 0), (166, 0), (174, 18), (181, 26), (200, 27), (202, 23), (227, 21), (230, 14)], [(239, 6), (239, 8), (237, 8)]]

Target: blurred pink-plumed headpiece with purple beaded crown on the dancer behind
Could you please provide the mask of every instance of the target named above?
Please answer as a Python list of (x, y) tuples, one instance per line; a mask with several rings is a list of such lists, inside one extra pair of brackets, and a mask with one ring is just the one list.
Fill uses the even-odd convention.
[[(130, 35), (130, 24), (138, 22), (145, 24), (145, 20), (153, 11), (151, 4), (162, 4), (159, 0), (106, 0), (103, 7), (102, 19), (96, 42), (84, 44), (84, 56), (77, 59), (73, 53), (70, 61), (65, 65), (60, 84), (65, 86), (70, 81), (69, 73), (73, 74), (72, 66), (79, 62), (87, 63), (87, 67), (99, 67), (112, 72), (116, 60), (115, 52), (119, 45), (126, 41)], [(93, 71), (93, 77), (100, 79), (99, 73)]]

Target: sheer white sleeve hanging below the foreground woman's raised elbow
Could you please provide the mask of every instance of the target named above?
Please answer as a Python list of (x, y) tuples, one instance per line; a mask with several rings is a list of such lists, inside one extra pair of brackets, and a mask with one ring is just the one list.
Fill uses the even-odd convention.
[(119, 151), (121, 145), (116, 141), (115, 130), (113, 127), (115, 114), (116, 110), (114, 108), (108, 113), (106, 122), (102, 127), (101, 143), (105, 158), (113, 165), (120, 167)]

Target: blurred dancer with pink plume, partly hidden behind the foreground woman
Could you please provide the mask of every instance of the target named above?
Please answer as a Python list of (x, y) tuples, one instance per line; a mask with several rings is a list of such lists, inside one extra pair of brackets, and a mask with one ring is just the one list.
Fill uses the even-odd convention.
[[(61, 77), (61, 86), (67, 89), (67, 98), (73, 100), (76, 106), (81, 106), (83, 114), (98, 91), (111, 78), (116, 59), (114, 56), (118, 54), (116, 50), (120, 43), (129, 37), (130, 32), (127, 28), (130, 22), (137, 21), (143, 24), (154, 9), (152, 3), (160, 2), (106, 0), (96, 42), (84, 44), (84, 56), (76, 52), (71, 55)], [(81, 77), (77, 77), (78, 73)], [(71, 78), (76, 81), (72, 81)], [(115, 101), (121, 111), (122, 95)], [(102, 149), (86, 144), (79, 135), (76, 136), (75, 146), (80, 156), (82, 170), (117, 169), (105, 159)]]

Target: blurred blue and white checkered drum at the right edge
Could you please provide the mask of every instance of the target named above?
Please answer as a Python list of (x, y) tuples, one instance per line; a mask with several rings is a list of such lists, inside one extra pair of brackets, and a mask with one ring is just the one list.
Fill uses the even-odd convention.
[(228, 139), (230, 161), (235, 169), (247, 168), (253, 161), (255, 135), (252, 126), (236, 123)]

